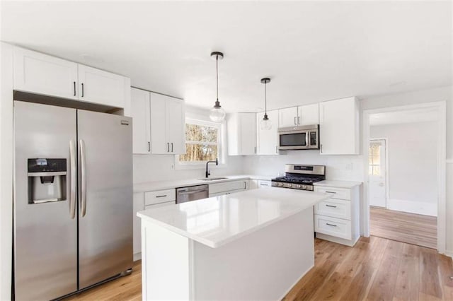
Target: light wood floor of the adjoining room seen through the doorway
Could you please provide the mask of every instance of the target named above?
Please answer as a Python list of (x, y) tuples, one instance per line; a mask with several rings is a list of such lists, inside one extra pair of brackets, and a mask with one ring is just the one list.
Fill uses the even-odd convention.
[(379, 207), (369, 208), (371, 235), (436, 249), (437, 218)]

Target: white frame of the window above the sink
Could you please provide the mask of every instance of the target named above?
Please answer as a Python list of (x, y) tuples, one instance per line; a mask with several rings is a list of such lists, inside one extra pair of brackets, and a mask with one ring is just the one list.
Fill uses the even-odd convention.
[[(185, 117), (185, 123), (184, 123), (184, 129), (185, 129), (185, 124), (196, 124), (200, 126), (210, 126), (210, 127), (215, 127), (217, 128), (217, 152), (218, 152), (218, 159), (219, 159), (219, 165), (218, 167), (226, 167), (226, 156), (224, 155), (224, 146), (226, 146), (226, 143), (224, 143), (224, 134), (225, 134), (225, 129), (224, 129), (224, 124), (220, 122), (211, 122), (203, 119), (196, 119), (196, 118), (190, 118), (190, 117)], [(197, 142), (197, 141), (184, 141), (184, 146), (186, 143), (190, 142)], [(199, 143), (194, 143), (194, 144), (199, 144)], [(207, 142), (208, 145), (216, 145), (214, 142)], [(174, 167), (176, 170), (191, 170), (191, 169), (204, 169), (206, 168), (206, 162), (207, 161), (196, 161), (196, 162), (181, 162), (179, 160), (180, 155), (175, 155), (175, 163)]]

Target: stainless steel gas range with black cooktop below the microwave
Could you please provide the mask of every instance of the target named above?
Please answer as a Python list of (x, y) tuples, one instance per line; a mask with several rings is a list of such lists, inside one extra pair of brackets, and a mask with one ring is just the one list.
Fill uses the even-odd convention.
[(285, 164), (285, 177), (272, 179), (273, 187), (313, 191), (313, 183), (326, 179), (324, 165)]

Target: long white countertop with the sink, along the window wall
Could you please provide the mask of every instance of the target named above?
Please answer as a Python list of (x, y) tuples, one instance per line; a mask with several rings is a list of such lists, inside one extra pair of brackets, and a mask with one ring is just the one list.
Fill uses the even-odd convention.
[(212, 181), (204, 181), (202, 179), (171, 179), (168, 181), (153, 181), (134, 184), (134, 193), (156, 191), (163, 189), (174, 189), (178, 187), (187, 187), (203, 184), (229, 182), (240, 179), (272, 179), (272, 176), (259, 176), (259, 175), (231, 175), (231, 176), (212, 176), (212, 177), (226, 177), (227, 179), (216, 179)]

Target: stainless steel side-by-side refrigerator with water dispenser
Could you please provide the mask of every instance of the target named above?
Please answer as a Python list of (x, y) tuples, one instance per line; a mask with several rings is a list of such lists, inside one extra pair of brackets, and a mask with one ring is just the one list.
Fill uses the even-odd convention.
[(15, 101), (14, 138), (16, 300), (130, 273), (132, 119)]

